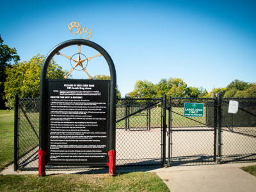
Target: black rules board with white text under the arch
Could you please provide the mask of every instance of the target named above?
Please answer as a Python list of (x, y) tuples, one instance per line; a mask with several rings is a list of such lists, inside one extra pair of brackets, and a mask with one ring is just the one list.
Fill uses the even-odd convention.
[(108, 162), (109, 83), (48, 80), (49, 164)]

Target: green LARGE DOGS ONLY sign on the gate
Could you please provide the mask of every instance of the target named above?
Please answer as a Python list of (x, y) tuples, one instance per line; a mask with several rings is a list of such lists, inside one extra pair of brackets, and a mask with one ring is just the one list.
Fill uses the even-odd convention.
[(204, 116), (204, 104), (186, 102), (184, 116)]

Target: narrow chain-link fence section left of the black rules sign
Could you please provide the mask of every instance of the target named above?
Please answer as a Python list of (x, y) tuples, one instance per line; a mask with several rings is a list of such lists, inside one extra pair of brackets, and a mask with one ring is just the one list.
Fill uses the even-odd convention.
[(18, 103), (17, 166), (19, 170), (38, 168), (39, 99), (20, 98)]

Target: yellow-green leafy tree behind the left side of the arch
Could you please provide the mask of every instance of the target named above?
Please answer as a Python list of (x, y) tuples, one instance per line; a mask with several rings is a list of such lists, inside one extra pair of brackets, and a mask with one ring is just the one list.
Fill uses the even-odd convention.
[[(6, 67), (6, 82), (4, 92), (6, 107), (12, 109), (14, 105), (14, 94), (19, 97), (39, 97), (40, 96), (40, 72), (45, 57), (41, 54), (33, 56), (29, 61), (23, 61), (17, 65)], [(67, 72), (64, 72), (54, 60), (49, 63), (47, 78), (63, 79)]]

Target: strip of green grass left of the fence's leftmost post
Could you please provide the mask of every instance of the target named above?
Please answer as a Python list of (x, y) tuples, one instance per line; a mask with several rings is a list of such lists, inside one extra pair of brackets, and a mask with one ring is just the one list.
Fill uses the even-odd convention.
[(0, 170), (13, 161), (13, 111), (0, 110)]

